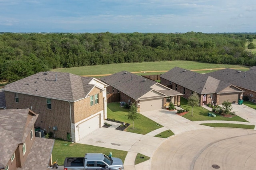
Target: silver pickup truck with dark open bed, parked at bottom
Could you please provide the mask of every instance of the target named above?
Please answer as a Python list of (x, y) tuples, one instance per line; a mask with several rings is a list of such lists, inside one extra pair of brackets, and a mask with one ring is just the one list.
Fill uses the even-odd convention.
[(102, 153), (87, 153), (84, 157), (66, 158), (64, 170), (124, 170), (124, 165), (120, 158)]

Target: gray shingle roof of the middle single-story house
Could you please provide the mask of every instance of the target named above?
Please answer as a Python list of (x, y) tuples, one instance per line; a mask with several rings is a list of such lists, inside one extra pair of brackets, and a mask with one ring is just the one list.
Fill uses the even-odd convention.
[[(141, 96), (152, 90), (151, 86), (154, 84), (159, 84), (158, 82), (144, 78), (142, 76), (138, 76), (136, 74), (132, 74), (127, 71), (122, 71), (110, 76), (103, 77), (101, 80), (116, 88), (120, 92), (130, 96), (134, 100), (138, 100)], [(170, 94), (171, 91), (174, 92), (174, 90), (168, 90), (168, 92), (165, 91), (165, 93)], [(165, 95), (168, 96), (168, 94)]]

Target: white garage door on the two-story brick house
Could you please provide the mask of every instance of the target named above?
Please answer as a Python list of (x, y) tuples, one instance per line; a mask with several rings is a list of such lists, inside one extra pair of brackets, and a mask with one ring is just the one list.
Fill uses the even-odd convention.
[(100, 115), (96, 115), (95, 117), (92, 117), (91, 119), (78, 125), (79, 140), (100, 127), (99, 117)]

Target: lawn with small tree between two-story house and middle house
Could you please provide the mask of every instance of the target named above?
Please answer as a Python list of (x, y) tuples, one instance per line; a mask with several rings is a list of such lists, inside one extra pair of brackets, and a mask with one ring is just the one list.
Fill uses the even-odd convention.
[(126, 117), (126, 115), (129, 112), (129, 109), (120, 107), (119, 102), (108, 103), (107, 107), (108, 119), (115, 119), (125, 123), (130, 123), (130, 125), (124, 131), (145, 135), (151, 131), (163, 127), (162, 125), (159, 125), (158, 123), (152, 121), (148, 117), (145, 117), (144, 115), (140, 114), (139, 119), (134, 120), (134, 129), (132, 129), (132, 120), (129, 120)]

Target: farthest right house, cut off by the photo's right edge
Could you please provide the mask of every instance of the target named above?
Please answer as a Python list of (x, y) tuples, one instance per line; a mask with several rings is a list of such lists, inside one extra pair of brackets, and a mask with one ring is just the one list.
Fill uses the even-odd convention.
[(234, 84), (238, 88), (244, 90), (243, 96), (248, 97), (251, 102), (256, 102), (256, 71), (255, 66), (248, 71), (234, 70), (225, 68), (206, 75), (212, 76), (218, 80)]

